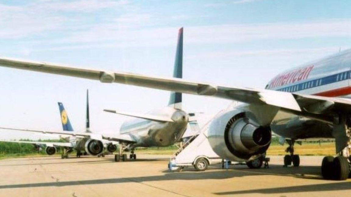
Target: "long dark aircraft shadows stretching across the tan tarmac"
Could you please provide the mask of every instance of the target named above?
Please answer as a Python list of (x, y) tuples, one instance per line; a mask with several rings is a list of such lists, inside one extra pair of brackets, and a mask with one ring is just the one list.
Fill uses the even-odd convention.
[[(148, 181), (172, 181), (172, 180), (201, 180), (201, 179), (227, 179), (234, 177), (257, 176), (257, 175), (278, 175), (278, 176), (293, 176), (296, 178), (317, 178), (320, 174), (320, 167), (317, 166), (302, 166), (299, 168), (283, 168), (280, 165), (271, 165), (269, 169), (247, 169), (231, 168), (229, 170), (218, 170), (213, 168), (204, 172), (171, 172), (159, 176), (144, 176), (144, 177), (126, 177), (126, 178), (108, 178), (108, 179), (91, 179), (91, 180), (76, 180), (76, 181), (57, 181), (48, 183), (29, 183), (29, 184), (14, 184), (0, 185), (0, 189), (10, 188), (35, 188), (47, 186), (72, 186), (72, 185), (91, 185), (91, 184), (111, 184), (111, 183), (143, 183)], [(321, 180), (325, 182), (324, 180)], [(290, 193), (290, 192), (307, 192), (307, 191), (334, 191), (334, 190), (349, 190), (351, 184), (349, 182), (332, 182), (320, 183), (312, 185), (289, 186), (281, 188), (266, 188), (257, 190), (229, 191), (214, 193), (217, 195), (234, 195), (248, 193)]]

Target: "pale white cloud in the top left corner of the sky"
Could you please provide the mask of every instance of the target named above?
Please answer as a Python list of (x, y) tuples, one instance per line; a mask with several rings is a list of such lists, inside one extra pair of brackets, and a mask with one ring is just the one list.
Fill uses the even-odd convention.
[(16, 6), (0, 4), (0, 38), (25, 38), (48, 30), (64, 29), (65, 22), (75, 20), (68, 18), (65, 12), (94, 12), (127, 5), (129, 1), (126, 0), (52, 0)]

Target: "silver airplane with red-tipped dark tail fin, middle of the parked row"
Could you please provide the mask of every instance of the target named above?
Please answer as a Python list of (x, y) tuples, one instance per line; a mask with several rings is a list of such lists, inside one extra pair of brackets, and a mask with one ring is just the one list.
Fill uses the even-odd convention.
[[(183, 75), (183, 29), (179, 30), (176, 58), (174, 62), (173, 77), (182, 78)], [(108, 78), (108, 77), (107, 77)], [(107, 79), (106, 78), (106, 79)], [(126, 161), (127, 154), (124, 151), (130, 151), (130, 159), (136, 159), (134, 153), (137, 147), (166, 147), (174, 143), (181, 142), (182, 136), (187, 129), (188, 123), (193, 123), (195, 116), (193, 113), (186, 113), (182, 110), (182, 94), (174, 91), (170, 94), (168, 105), (160, 110), (154, 110), (146, 114), (130, 113), (116, 110), (104, 111), (134, 117), (126, 121), (120, 128), (120, 134), (101, 134), (92, 132), (75, 132), (70, 131), (37, 131), (32, 132), (46, 134), (64, 134), (75, 137), (82, 137), (81, 149), (86, 150), (94, 155), (100, 154), (102, 151), (102, 142), (104, 140), (119, 142), (119, 154), (115, 154), (115, 161)], [(62, 118), (62, 121), (65, 118)], [(68, 118), (67, 118), (68, 121)], [(9, 128), (2, 128), (9, 129)], [(21, 129), (16, 129), (21, 130)], [(84, 149), (85, 148), (85, 149)]]

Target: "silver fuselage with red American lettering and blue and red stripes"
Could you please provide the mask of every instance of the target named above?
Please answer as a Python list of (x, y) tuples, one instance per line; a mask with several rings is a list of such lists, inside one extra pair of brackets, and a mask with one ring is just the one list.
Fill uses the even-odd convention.
[[(351, 50), (283, 72), (266, 88), (305, 95), (348, 96), (351, 94)], [(284, 111), (278, 111), (271, 128), (286, 138), (333, 138), (332, 125)]]

